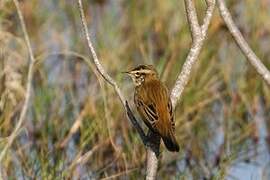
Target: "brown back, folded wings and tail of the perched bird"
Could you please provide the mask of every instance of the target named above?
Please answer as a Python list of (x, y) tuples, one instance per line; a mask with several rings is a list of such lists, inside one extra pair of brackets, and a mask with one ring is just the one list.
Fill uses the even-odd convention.
[(145, 124), (159, 133), (168, 150), (179, 151), (174, 136), (175, 123), (172, 103), (167, 88), (161, 83), (142, 86), (136, 94), (135, 104)]

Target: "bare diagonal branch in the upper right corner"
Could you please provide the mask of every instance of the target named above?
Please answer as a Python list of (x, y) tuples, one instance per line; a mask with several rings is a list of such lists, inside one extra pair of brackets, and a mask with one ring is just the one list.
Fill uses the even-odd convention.
[(246, 56), (250, 64), (255, 68), (257, 73), (265, 80), (265, 82), (270, 86), (270, 72), (261, 62), (261, 60), (256, 56), (256, 54), (249, 47), (248, 43), (245, 41), (243, 35), (235, 25), (232, 16), (226, 7), (224, 0), (218, 1), (219, 12), (226, 23), (230, 33), (232, 34), (237, 45), (240, 47), (243, 54)]

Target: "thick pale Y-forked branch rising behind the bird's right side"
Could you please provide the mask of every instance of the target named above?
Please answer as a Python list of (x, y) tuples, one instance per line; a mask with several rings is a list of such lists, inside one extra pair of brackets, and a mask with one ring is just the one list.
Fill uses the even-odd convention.
[(192, 67), (196, 63), (198, 56), (200, 54), (203, 42), (205, 41), (206, 38), (208, 26), (214, 13), (216, 0), (206, 0), (206, 4), (207, 4), (206, 15), (203, 20), (203, 25), (200, 27), (193, 0), (185, 0), (187, 18), (190, 25), (193, 41), (191, 49), (186, 58), (186, 61), (182, 67), (182, 71), (178, 75), (175, 85), (171, 92), (171, 101), (173, 109), (176, 107), (178, 100), (181, 98), (183, 90), (190, 79)]

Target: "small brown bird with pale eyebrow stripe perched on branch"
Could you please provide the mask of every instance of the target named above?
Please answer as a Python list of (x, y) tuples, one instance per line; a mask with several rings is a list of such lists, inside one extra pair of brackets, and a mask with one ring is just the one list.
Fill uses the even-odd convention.
[(139, 65), (126, 73), (135, 85), (134, 102), (144, 123), (161, 136), (169, 151), (179, 151), (174, 136), (172, 103), (154, 66)]

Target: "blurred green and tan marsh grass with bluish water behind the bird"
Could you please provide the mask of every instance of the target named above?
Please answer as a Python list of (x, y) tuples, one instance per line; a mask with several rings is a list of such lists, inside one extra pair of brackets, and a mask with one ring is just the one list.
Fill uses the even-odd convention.
[[(270, 69), (270, 1), (226, 3)], [(88, 63), (76, 1), (23, 0), (20, 7), (36, 62), (30, 108), (2, 177), (142, 179), (145, 148), (114, 90)], [(202, 18), (204, 1), (196, 7)], [(191, 44), (183, 1), (89, 0), (84, 9), (101, 63), (130, 102), (132, 83), (120, 72), (138, 64), (154, 64), (173, 86)], [(22, 108), (28, 64), (16, 8), (1, 1), (0, 149)], [(270, 179), (269, 87), (217, 11), (175, 117), (181, 150), (162, 146), (159, 179)]]

